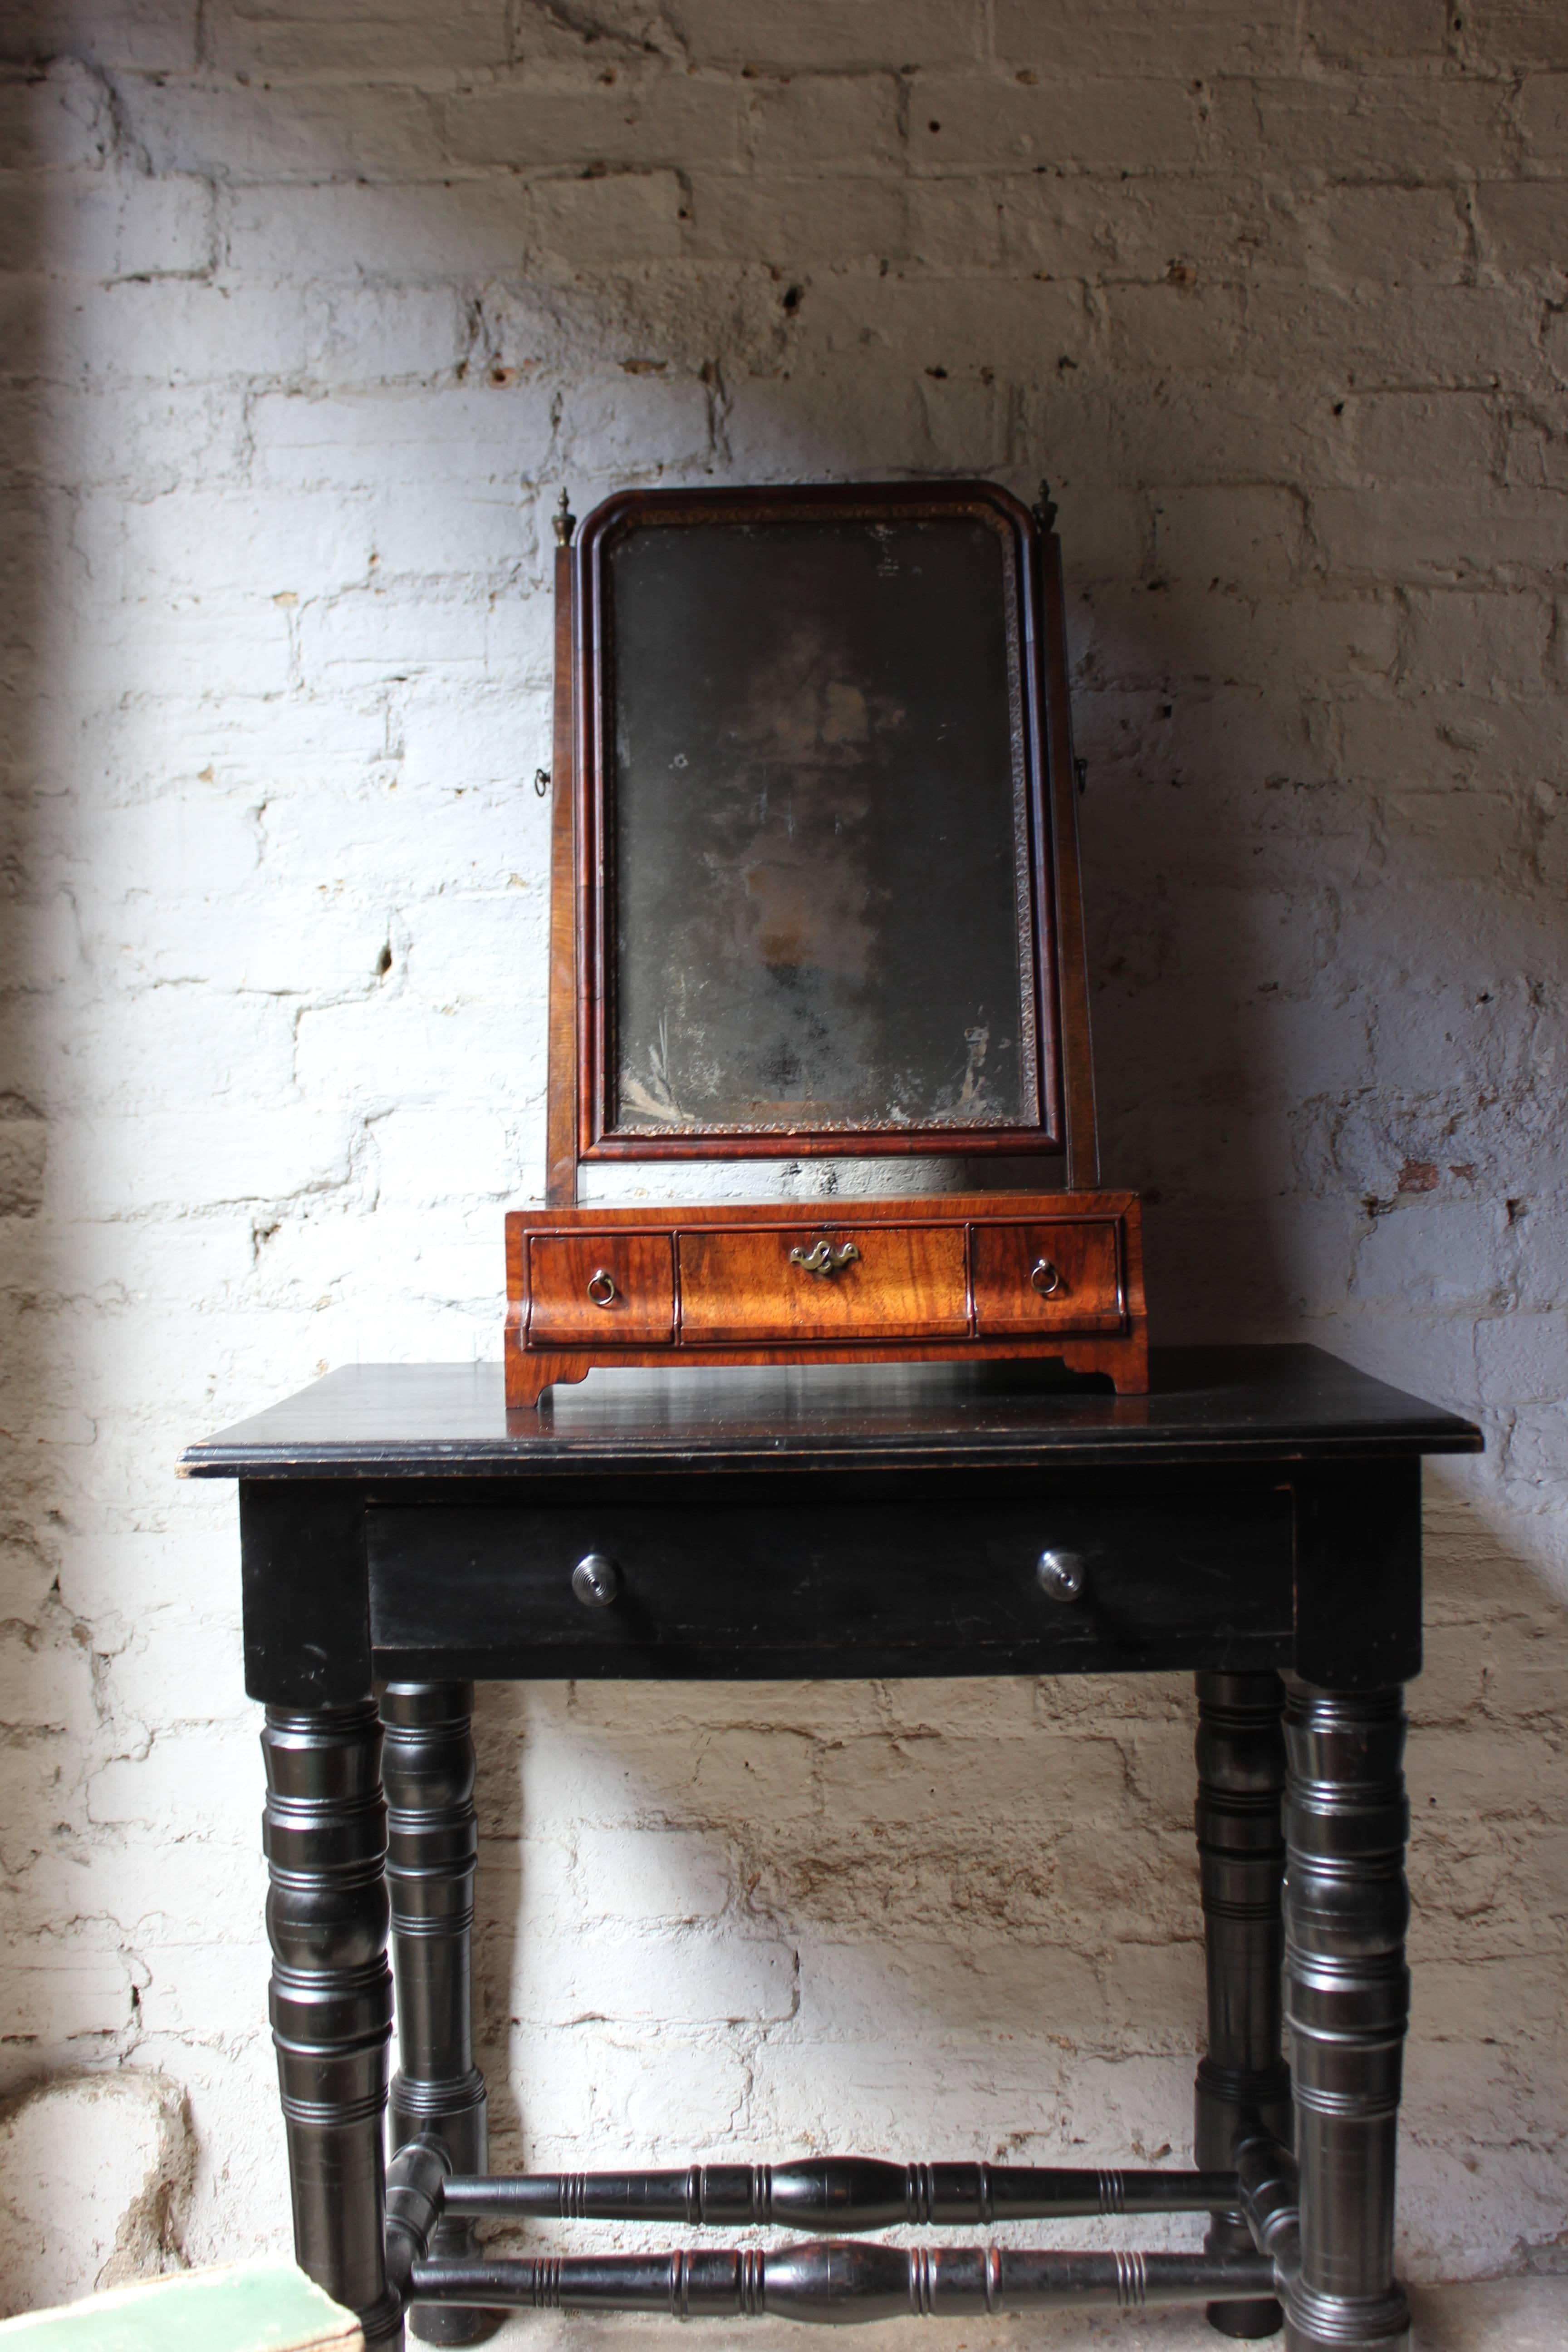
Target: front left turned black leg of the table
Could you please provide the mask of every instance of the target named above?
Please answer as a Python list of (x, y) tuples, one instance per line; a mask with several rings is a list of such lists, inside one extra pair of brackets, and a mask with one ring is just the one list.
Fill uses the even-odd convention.
[(381, 2239), (393, 2030), (381, 1722), (369, 1698), (308, 1712), (268, 1708), (261, 1750), (294, 2253), (317, 2286), (360, 2314), (374, 2352), (395, 2352), (402, 2314)]

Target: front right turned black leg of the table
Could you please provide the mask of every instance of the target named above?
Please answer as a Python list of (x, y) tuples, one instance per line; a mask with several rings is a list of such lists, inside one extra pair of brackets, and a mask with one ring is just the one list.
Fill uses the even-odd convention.
[(1410, 2004), (1401, 1693), (1291, 1682), (1286, 2023), (1295, 2074), (1300, 2277), (1291, 2352), (1394, 2352), (1394, 2143)]

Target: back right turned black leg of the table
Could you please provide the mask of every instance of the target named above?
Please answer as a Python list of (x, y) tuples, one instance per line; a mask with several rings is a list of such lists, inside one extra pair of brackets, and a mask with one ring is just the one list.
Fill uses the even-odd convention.
[[(1279, 1799), (1286, 1748), (1279, 1675), (1199, 1675), (1197, 1844), (1208, 1959), (1208, 2056), (1197, 2072), (1194, 2161), (1229, 2171), (1237, 2126), (1262, 2119), (1291, 2140), (1291, 2074), (1281, 2051), (1279, 1966), (1286, 1842)], [(1255, 2129), (1255, 2124), (1253, 2124)], [(1208, 2253), (1251, 2251), (1239, 2211), (1215, 2213)], [(1274, 2336), (1279, 2303), (1211, 2303), (1222, 2336)]]

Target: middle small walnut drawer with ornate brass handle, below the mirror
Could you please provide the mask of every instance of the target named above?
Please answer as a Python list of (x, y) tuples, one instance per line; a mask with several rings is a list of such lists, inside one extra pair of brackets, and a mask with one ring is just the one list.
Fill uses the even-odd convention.
[(961, 1225), (691, 1228), (677, 1237), (682, 1345), (961, 1338)]

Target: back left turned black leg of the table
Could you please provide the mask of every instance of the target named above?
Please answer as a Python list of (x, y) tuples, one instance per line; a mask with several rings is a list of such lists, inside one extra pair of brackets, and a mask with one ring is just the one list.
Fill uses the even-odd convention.
[[(484, 2077), (473, 2063), (473, 1684), (388, 1682), (388, 1886), (397, 1978), (393, 2147), (421, 2131), (444, 2140), (454, 2173), (487, 2169)], [(473, 2220), (442, 2220), (433, 2256), (477, 2253)], [(498, 2312), (416, 2303), (409, 2328), (430, 2345), (491, 2336)]]

